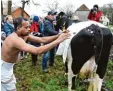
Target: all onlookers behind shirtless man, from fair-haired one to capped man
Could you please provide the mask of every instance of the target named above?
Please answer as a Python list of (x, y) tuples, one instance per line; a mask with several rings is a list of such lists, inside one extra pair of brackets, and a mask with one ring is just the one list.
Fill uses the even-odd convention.
[[(37, 36), (37, 37), (43, 37), (43, 36), (53, 36), (57, 35), (59, 32), (55, 30), (54, 24), (55, 24), (55, 16), (57, 12), (50, 11), (48, 12), (47, 16), (45, 17), (44, 20), (42, 20), (39, 16), (34, 16), (31, 21), (30, 21), (30, 34)], [(3, 40), (5, 40), (6, 37), (8, 37), (11, 33), (15, 31), (15, 22), (17, 19), (14, 19), (11, 15), (6, 16), (5, 23), (2, 24), (2, 43)], [(3, 22), (2, 22), (3, 23)], [(41, 46), (41, 43), (35, 43), (35, 42), (28, 42), (31, 45), (34, 45), (36, 47)], [(43, 45), (46, 45), (48, 43), (44, 43)], [(42, 70), (43, 72), (48, 72), (47, 69), (47, 61), (49, 61), (49, 65), (53, 66), (54, 64), (54, 55), (55, 55), (55, 49), (52, 48), (50, 51), (43, 53), (42, 57)], [(20, 52), (21, 59), (23, 59), (24, 51)], [(31, 53), (31, 59), (32, 59), (32, 65), (35, 66), (38, 61), (38, 55), (32, 54)]]

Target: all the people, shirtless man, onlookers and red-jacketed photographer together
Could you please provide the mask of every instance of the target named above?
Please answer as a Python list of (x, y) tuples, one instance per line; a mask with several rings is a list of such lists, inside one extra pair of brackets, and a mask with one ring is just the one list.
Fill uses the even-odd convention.
[[(6, 17), (6, 22), (2, 25), (4, 36), (1, 37), (3, 40), (1, 47), (2, 91), (16, 91), (13, 67), (20, 52), (31, 53), (33, 65), (37, 64), (38, 55), (43, 53), (42, 70), (44, 72), (48, 72), (48, 59), (49, 65), (54, 65), (55, 47), (70, 36), (68, 31), (59, 33), (55, 30), (56, 13), (48, 12), (44, 20), (34, 16), (32, 22), (22, 17), (16, 18), (13, 22), (11, 15)], [(88, 19), (99, 22), (101, 15), (98, 5), (94, 5)]]

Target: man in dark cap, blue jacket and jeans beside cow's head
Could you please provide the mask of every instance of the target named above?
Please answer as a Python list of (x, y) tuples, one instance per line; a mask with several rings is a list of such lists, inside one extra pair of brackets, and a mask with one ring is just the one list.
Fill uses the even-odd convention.
[[(55, 31), (53, 21), (55, 20), (55, 15), (57, 12), (49, 11), (48, 15), (45, 17), (44, 20), (44, 36), (52, 36), (58, 34)], [(53, 66), (54, 64), (54, 55), (55, 55), (55, 48), (51, 49), (49, 52), (45, 52), (42, 58), (42, 70), (43, 72), (48, 72), (47, 69), (47, 60), (49, 58), (49, 65)]]

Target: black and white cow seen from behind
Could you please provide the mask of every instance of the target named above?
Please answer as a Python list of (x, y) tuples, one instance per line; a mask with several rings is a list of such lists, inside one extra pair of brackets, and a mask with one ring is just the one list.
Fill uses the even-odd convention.
[(110, 30), (94, 21), (74, 23), (63, 13), (57, 17), (56, 27), (74, 34), (67, 51), (68, 91), (75, 89), (78, 75), (90, 77), (88, 91), (101, 91), (112, 45)]

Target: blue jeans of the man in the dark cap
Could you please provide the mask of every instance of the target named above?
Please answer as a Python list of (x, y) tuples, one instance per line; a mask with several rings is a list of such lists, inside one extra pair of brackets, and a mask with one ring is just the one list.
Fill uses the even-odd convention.
[(49, 64), (54, 64), (54, 55), (55, 55), (55, 48), (51, 49), (49, 52), (45, 52), (42, 58), (42, 70), (47, 69), (47, 61), (49, 60)]

